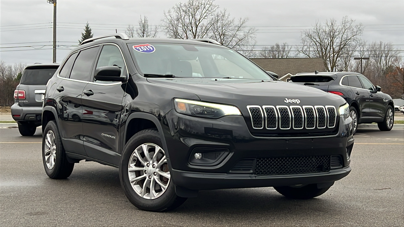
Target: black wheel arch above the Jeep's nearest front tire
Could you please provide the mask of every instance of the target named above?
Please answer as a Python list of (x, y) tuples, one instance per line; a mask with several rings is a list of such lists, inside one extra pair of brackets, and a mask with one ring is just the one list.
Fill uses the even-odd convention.
[(157, 119), (156, 116), (152, 115), (151, 113), (144, 113), (144, 112), (136, 112), (129, 115), (128, 119), (126, 120), (124, 136), (122, 141), (122, 150), (125, 147), (126, 142), (137, 132), (147, 129), (147, 128), (157, 128), (161, 143), (163, 145), (163, 149), (166, 152), (167, 158), (170, 158), (168, 155), (168, 149), (166, 140), (164, 138), (163, 128), (160, 124), (160, 121)]

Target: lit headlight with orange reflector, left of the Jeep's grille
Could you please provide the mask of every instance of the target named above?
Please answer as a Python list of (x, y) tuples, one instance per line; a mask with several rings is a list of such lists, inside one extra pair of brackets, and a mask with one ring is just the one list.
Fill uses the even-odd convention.
[(187, 99), (174, 99), (175, 110), (178, 113), (204, 118), (220, 118), (227, 115), (239, 115), (240, 110), (231, 105), (204, 103)]

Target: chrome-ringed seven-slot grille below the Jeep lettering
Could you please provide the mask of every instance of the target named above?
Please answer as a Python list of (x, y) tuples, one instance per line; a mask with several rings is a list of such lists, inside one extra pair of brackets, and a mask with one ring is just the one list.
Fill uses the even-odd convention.
[(248, 105), (254, 129), (334, 128), (337, 110), (332, 105)]

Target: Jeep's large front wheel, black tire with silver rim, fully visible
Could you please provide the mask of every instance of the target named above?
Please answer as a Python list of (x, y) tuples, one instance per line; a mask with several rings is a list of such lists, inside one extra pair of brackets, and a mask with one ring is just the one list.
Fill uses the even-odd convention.
[(173, 210), (187, 200), (175, 193), (165, 151), (155, 128), (137, 132), (126, 143), (119, 177), (126, 197), (141, 210)]

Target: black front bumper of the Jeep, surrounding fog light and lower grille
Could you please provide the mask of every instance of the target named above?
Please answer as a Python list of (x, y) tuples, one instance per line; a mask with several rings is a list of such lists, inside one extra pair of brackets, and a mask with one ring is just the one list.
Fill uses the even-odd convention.
[[(351, 118), (340, 116), (336, 134), (319, 137), (255, 137), (242, 116), (220, 119), (196, 118), (168, 112), (162, 120), (166, 156), (173, 182), (186, 189), (223, 189), (271, 187), (337, 181), (350, 172), (347, 148), (353, 146)], [(215, 165), (190, 162), (196, 148), (225, 149), (228, 154)], [(295, 175), (258, 176), (231, 173), (238, 161), (246, 158), (333, 156), (342, 158), (342, 166), (326, 172)]]

